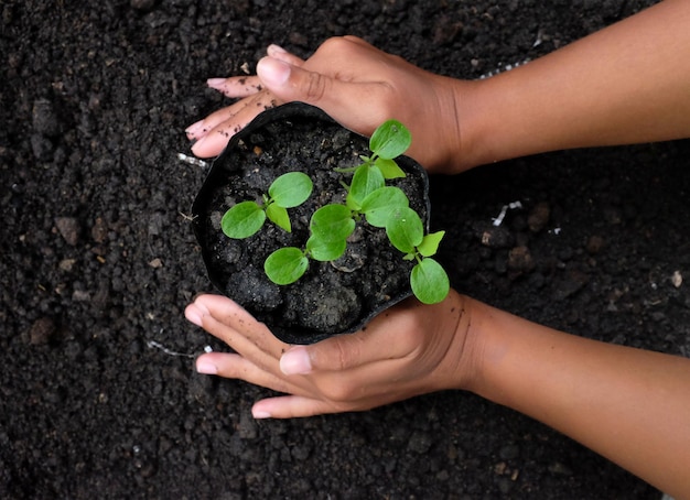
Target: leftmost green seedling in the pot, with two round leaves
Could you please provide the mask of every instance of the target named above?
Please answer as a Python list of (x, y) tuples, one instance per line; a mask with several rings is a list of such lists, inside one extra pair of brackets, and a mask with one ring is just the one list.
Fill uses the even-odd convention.
[(228, 238), (249, 238), (261, 229), (268, 217), (276, 226), (291, 232), (288, 208), (303, 204), (313, 188), (312, 180), (302, 172), (289, 172), (276, 178), (262, 196), (263, 203), (241, 202), (225, 213), (220, 220)]

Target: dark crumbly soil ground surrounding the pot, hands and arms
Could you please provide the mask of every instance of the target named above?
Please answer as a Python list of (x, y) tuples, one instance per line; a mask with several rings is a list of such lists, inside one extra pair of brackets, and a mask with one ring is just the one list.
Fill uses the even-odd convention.
[[(0, 498), (659, 498), (462, 392), (255, 422), (268, 391), (193, 369), (224, 347), (183, 318), (212, 287), (186, 217), (207, 169), (177, 156), (184, 128), (226, 102), (205, 79), (251, 73), (269, 43), (308, 56), (357, 34), (478, 78), (650, 3), (3, 0)], [(688, 356), (689, 150), (556, 152), (432, 178), (453, 285)]]

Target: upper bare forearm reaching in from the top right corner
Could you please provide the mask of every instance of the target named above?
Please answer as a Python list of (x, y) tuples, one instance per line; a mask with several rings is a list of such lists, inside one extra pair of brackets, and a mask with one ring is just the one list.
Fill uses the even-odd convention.
[(666, 0), (540, 59), (459, 83), (468, 166), (690, 137), (690, 2)]

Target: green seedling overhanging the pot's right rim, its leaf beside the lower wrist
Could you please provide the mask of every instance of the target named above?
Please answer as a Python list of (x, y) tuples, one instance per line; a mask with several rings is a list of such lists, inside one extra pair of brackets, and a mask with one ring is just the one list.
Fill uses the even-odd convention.
[(388, 239), (402, 253), (405, 260), (417, 260), (410, 273), (414, 296), (424, 304), (443, 301), (450, 291), (448, 274), (431, 257), (439, 249), (445, 231), (424, 235), (419, 215), (411, 208), (396, 210), (386, 225)]

